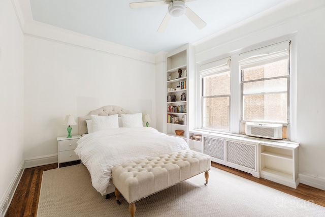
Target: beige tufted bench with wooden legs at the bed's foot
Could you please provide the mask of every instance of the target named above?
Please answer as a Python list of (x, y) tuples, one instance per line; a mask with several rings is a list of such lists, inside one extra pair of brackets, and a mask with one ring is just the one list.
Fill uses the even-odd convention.
[(182, 150), (113, 167), (116, 202), (120, 193), (134, 216), (135, 202), (205, 172), (208, 183), (211, 158), (193, 150)]

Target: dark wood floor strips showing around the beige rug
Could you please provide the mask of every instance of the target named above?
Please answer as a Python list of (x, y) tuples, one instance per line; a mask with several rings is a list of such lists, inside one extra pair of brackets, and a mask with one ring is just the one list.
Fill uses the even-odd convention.
[[(70, 166), (76, 163), (78, 162), (72, 162), (60, 166)], [(212, 163), (212, 166), (325, 207), (325, 191), (312, 188), (305, 184), (299, 184), (297, 189), (293, 189), (263, 178), (253, 177), (249, 173), (220, 164)], [(57, 168), (57, 164), (25, 169), (5, 216), (36, 217), (43, 171), (54, 168)]]

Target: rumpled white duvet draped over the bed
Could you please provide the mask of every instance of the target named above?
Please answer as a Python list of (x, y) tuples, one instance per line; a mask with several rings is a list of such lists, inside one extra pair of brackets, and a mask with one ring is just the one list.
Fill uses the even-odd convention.
[(189, 149), (184, 139), (167, 136), (150, 127), (96, 131), (77, 143), (75, 152), (89, 170), (93, 187), (102, 195), (110, 185), (113, 167)]

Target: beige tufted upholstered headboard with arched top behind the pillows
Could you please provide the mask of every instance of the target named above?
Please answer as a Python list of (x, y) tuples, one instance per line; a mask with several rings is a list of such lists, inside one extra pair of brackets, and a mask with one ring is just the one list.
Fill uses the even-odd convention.
[(132, 113), (131, 111), (125, 110), (119, 106), (103, 106), (102, 108), (90, 111), (88, 115), (78, 118), (79, 135), (88, 133), (86, 120), (91, 119), (90, 115), (105, 116), (105, 115), (112, 115), (112, 114), (118, 114), (118, 116), (121, 116), (121, 114), (132, 114)]

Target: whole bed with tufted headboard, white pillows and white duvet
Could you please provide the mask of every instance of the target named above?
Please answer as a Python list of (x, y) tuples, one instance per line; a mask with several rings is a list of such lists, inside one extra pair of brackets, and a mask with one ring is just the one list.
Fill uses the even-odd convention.
[(115, 191), (112, 168), (121, 164), (189, 150), (184, 139), (143, 127), (142, 113), (104, 106), (78, 118), (76, 154), (87, 167), (93, 187), (102, 195)]

